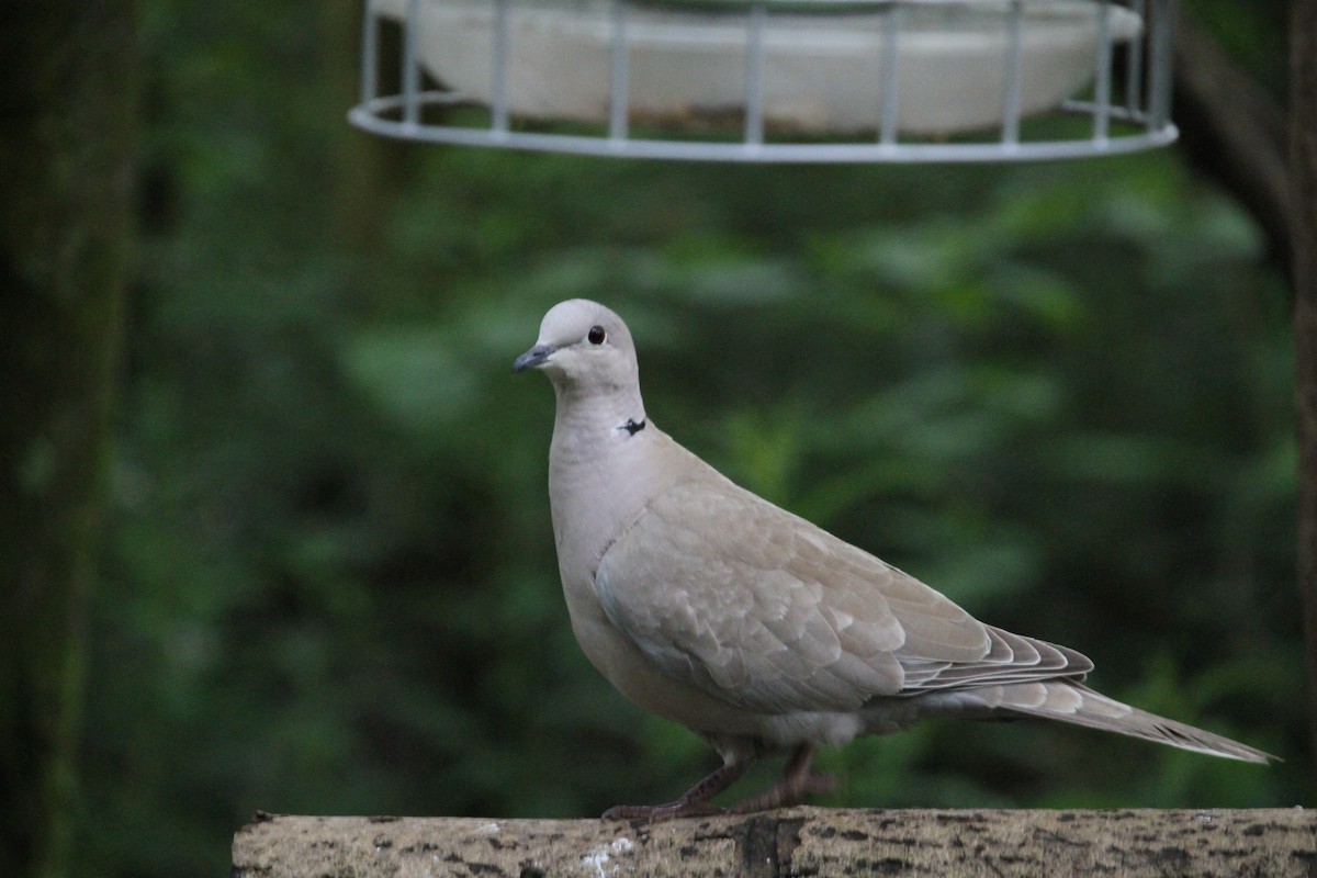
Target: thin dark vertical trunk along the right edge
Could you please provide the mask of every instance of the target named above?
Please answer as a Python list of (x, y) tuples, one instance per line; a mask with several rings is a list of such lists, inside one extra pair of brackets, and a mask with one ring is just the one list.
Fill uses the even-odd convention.
[[(1317, 0), (1295, 0), (1292, 13), (1289, 167), (1299, 407), (1299, 588), (1308, 657), (1309, 753), (1317, 757)], [(1313, 779), (1317, 783), (1317, 777)]]

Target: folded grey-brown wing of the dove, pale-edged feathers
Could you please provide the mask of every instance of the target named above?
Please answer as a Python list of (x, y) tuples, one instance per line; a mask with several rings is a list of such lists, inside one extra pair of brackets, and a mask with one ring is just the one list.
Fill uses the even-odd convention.
[(720, 477), (653, 498), (605, 550), (595, 587), (665, 674), (759, 712), (1088, 669)]

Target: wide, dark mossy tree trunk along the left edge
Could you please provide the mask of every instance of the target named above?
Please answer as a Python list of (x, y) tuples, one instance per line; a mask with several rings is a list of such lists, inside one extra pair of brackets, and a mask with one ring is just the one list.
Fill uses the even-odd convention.
[(0, 24), (0, 874), (66, 874), (83, 616), (116, 387), (136, 117), (132, 0)]

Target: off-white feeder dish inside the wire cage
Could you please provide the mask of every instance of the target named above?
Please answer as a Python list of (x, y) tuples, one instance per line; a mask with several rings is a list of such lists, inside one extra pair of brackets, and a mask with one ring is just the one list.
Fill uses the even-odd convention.
[[(610, 111), (614, 26), (610, 3), (514, 3), (508, 9), (508, 111), (524, 118), (603, 122)], [(1009, 0), (901, 11), (897, 130), (952, 134), (1001, 122), (1010, 34)], [(382, 14), (406, 17), (407, 0)], [(423, 0), (420, 58), (446, 87), (494, 100), (495, 8)], [(1113, 42), (1139, 36), (1139, 16), (1110, 9)], [(778, 14), (763, 34), (764, 118), (809, 133), (853, 133), (880, 124), (888, 11)], [(1090, 0), (1025, 4), (1021, 115), (1059, 105), (1093, 80), (1101, 7)], [(630, 111), (648, 122), (726, 120), (745, 108), (744, 13), (636, 8), (626, 21)]]

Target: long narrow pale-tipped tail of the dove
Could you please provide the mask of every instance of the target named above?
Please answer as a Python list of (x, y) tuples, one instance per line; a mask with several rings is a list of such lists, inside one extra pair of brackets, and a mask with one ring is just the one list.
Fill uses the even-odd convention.
[(1060, 720), (1226, 760), (1267, 763), (1276, 758), (1221, 735), (1130, 707), (1081, 683), (1047, 681), (988, 688), (997, 690), (990, 696), (996, 712)]

